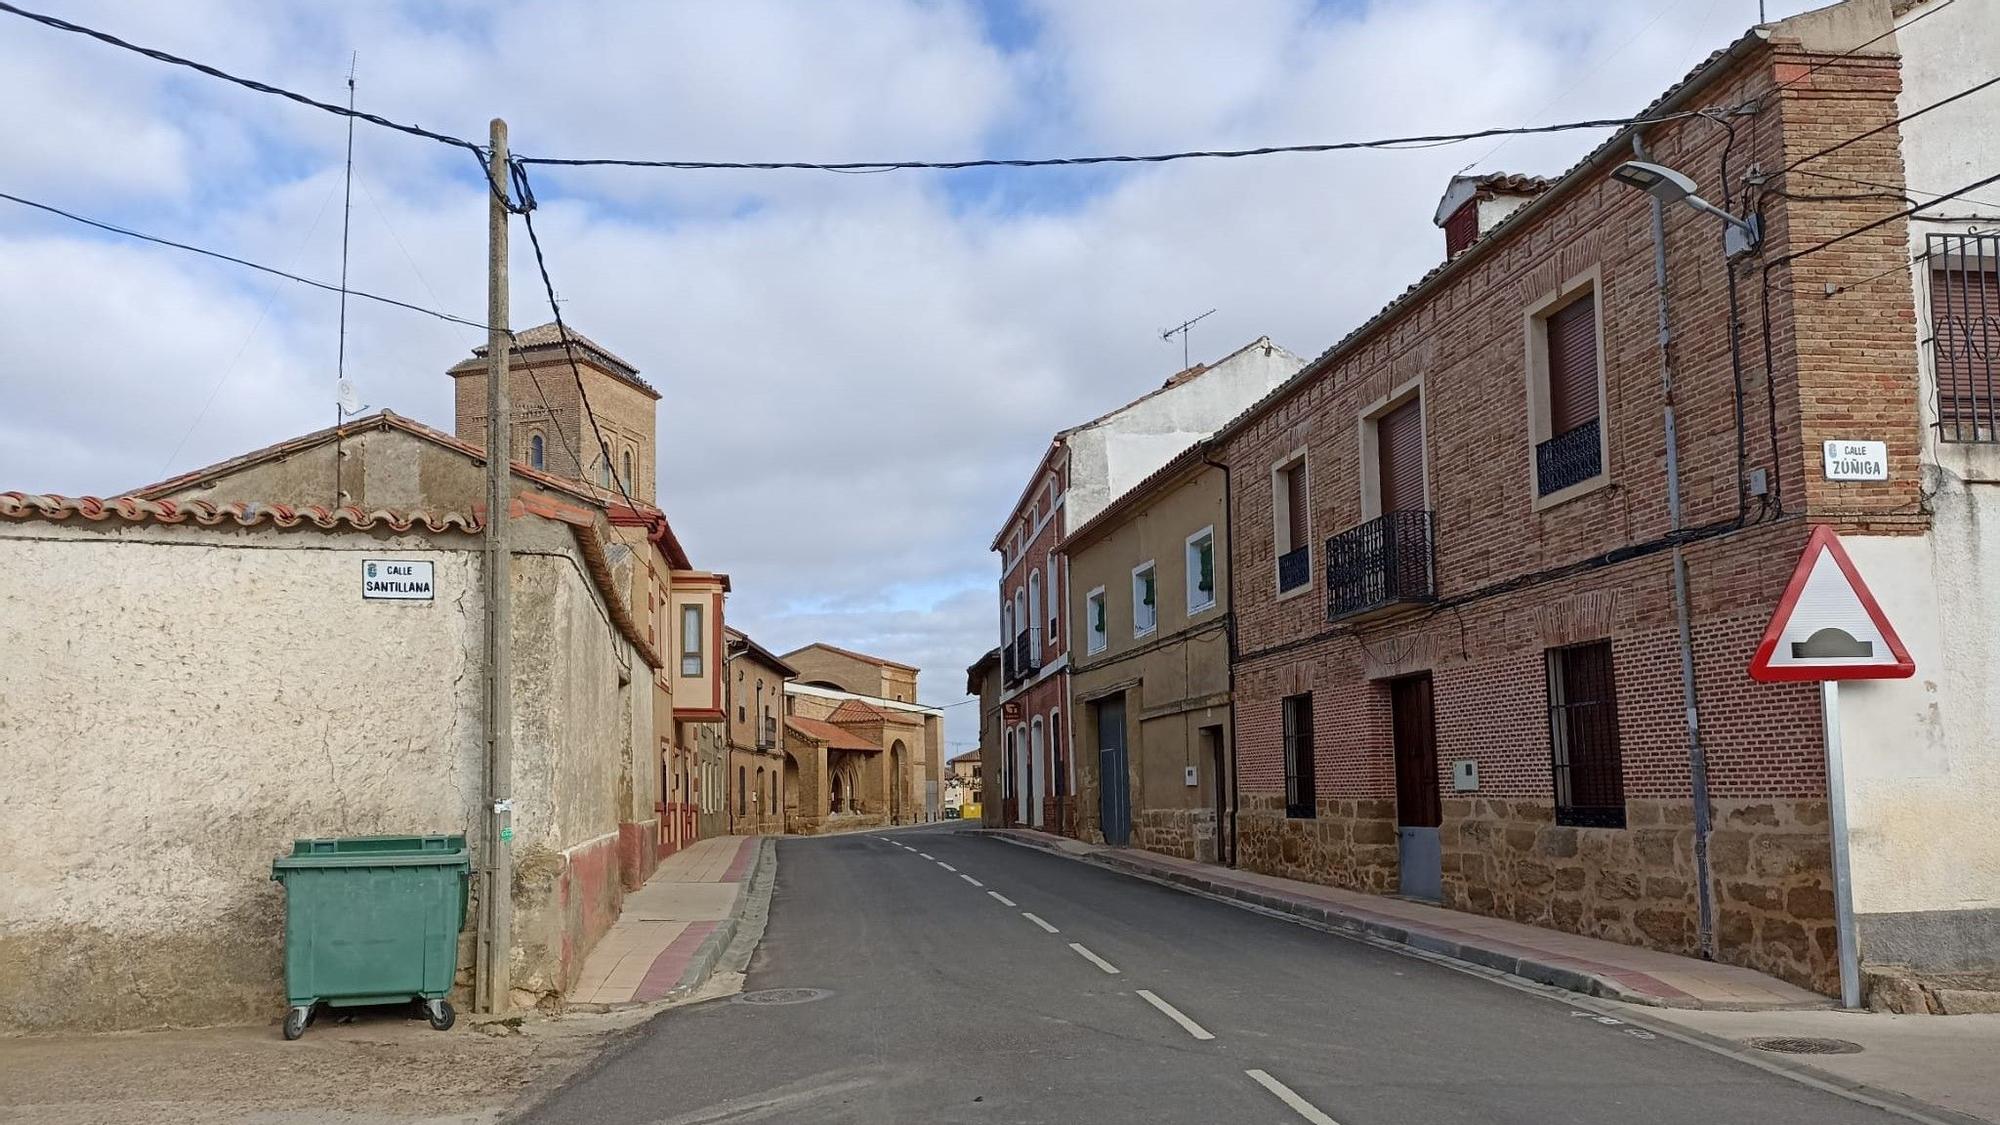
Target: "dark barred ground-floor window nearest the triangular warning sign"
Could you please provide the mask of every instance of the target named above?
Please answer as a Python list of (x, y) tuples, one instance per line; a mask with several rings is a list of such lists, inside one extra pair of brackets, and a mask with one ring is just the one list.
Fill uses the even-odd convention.
[(1624, 827), (1612, 643), (1548, 651), (1548, 747), (1556, 823)]

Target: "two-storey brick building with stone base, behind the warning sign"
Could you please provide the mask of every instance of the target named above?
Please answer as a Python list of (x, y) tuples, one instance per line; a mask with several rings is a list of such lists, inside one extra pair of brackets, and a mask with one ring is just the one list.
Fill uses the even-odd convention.
[[(1930, 528), (1888, 20), (1754, 28), (1560, 178), (1454, 180), (1448, 258), (1216, 434), (1244, 867), (1832, 987), (1820, 699), (1744, 669), (1810, 524)], [(1634, 152), (1762, 246), (1614, 180)], [(1888, 478), (1826, 480), (1830, 438)]]

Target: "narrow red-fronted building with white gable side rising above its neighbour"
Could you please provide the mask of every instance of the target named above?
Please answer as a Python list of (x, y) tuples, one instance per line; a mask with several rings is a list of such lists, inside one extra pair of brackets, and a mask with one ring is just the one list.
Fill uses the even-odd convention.
[(1000, 554), (1000, 697), (996, 793), (1002, 823), (1070, 831), (1076, 765), (1070, 753), (1068, 575), (1056, 542), (1244, 406), (1284, 382), (1298, 356), (1258, 338), (1212, 364), (1176, 372), (1158, 388), (1058, 432), (990, 544)]

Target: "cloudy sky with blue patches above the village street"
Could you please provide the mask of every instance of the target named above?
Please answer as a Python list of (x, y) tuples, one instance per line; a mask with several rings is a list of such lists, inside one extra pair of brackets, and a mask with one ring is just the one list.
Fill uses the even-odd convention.
[[(516, 152), (694, 160), (1298, 144), (1628, 114), (1756, 0), (30, 0)], [(1778, 18), (1808, 6), (1772, 0)], [(0, 190), (314, 278), (344, 122), (0, 16)], [(732, 623), (962, 699), (1052, 430), (1270, 334), (1316, 354), (1442, 256), (1466, 166), (1598, 134), (1118, 170), (536, 172), (564, 316), (664, 394), (660, 496)], [(484, 316), (470, 156), (362, 126), (352, 284)], [(514, 322), (546, 320), (516, 224)], [(110, 494), (334, 414), (336, 298), (0, 200), (0, 488)], [(450, 426), (480, 334), (354, 302), (370, 406)], [(976, 739), (950, 711), (954, 753)]]

